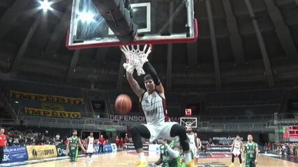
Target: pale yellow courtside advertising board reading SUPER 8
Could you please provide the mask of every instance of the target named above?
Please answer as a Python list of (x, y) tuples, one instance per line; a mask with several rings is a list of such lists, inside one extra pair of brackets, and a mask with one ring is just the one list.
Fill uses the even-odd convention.
[(57, 157), (55, 145), (29, 145), (26, 148), (29, 160)]

